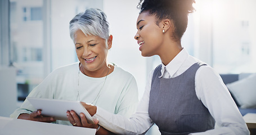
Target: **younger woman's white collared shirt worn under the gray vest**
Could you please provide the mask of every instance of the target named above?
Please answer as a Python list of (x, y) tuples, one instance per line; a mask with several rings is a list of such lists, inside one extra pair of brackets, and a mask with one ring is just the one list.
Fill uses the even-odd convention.
[[(177, 77), (196, 62), (200, 61), (188, 55), (187, 51), (183, 49), (167, 66), (162, 64), (161, 76), (159, 78)], [(114, 133), (141, 134), (146, 132), (154, 124), (148, 112), (153, 73), (154, 70), (151, 71), (147, 78), (145, 93), (138, 105), (136, 113), (131, 118), (125, 119), (119, 115), (106, 113), (100, 107), (97, 107), (97, 113), (93, 118), (99, 119), (102, 127)], [(242, 115), (228, 92), (227, 87), (219, 74), (210, 66), (201, 66), (197, 70), (195, 75), (195, 91), (197, 98), (208, 108), (217, 126), (215, 129), (209, 131), (191, 134), (249, 134), (246, 123), (242, 119)]]

